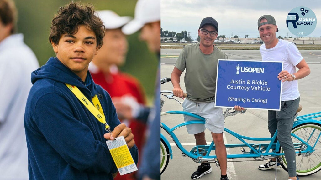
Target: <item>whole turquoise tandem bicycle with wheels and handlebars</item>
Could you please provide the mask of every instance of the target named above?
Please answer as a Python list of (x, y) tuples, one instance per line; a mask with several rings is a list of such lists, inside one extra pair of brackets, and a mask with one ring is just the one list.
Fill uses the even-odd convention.
[[(161, 84), (170, 81), (170, 78), (162, 78)], [(168, 94), (168, 95), (166, 95)], [(167, 97), (168, 99), (174, 99), (177, 102), (181, 103), (177, 99), (174, 98), (174, 94), (172, 91), (161, 91), (161, 95)], [(185, 94), (187, 95), (187, 94)], [(184, 96), (186, 97), (186, 96)], [(164, 105), (164, 100), (161, 99), (161, 108)], [(242, 111), (232, 111), (229, 112), (232, 108), (227, 108), (224, 111), (224, 119), (227, 116), (233, 116), (237, 113), (244, 113), (246, 110)], [(302, 106), (299, 107), (298, 111), (302, 109)], [(190, 157), (195, 162), (215, 162), (217, 166), (219, 166), (219, 162), (216, 159), (216, 155), (211, 154), (213, 150), (215, 150), (215, 144), (212, 141), (209, 145), (196, 145), (190, 151), (187, 151), (182, 143), (180, 143), (178, 137), (175, 135), (174, 131), (180, 127), (192, 125), (192, 124), (205, 124), (205, 119), (199, 115), (186, 112), (186, 111), (166, 111), (161, 112), (161, 117), (167, 116), (170, 114), (181, 114), (184, 116), (193, 117), (194, 120), (180, 123), (174, 125), (174, 127), (168, 127), (164, 122), (161, 121), (160, 127), (166, 131), (169, 136), (172, 138), (176, 146), (182, 152), (183, 157)], [(312, 114), (307, 114), (303, 116), (295, 118), (297, 119), (293, 123), (291, 137), (293, 140), (294, 149), (296, 151), (296, 162), (297, 162), (297, 175), (298, 176), (308, 176), (314, 173), (317, 173), (321, 170), (321, 119), (317, 119), (321, 117), (321, 112), (316, 112)], [(265, 160), (277, 158), (280, 161), (280, 164), (283, 169), (287, 170), (287, 158), (284, 155), (283, 148), (280, 146), (279, 141), (277, 141), (277, 131), (274, 133), (273, 137), (248, 137), (244, 135), (240, 135), (228, 128), (224, 128), (224, 131), (236, 139), (238, 139), (241, 143), (239, 144), (225, 144), (226, 148), (236, 148), (239, 147), (241, 149), (241, 153), (237, 154), (227, 154), (227, 159), (242, 159), (242, 158), (254, 158), (255, 160)], [(166, 137), (161, 133), (161, 173), (164, 172), (168, 165), (169, 158), (173, 159), (172, 149), (169, 144), (169, 141)], [(248, 143), (247, 141), (254, 141), (256, 143)], [(265, 141), (265, 143), (263, 143)], [(269, 143), (267, 143), (269, 142)], [(249, 151), (245, 151), (243, 147), (249, 148)], [(204, 155), (205, 154), (205, 155)], [(231, 160), (230, 160), (231, 161)], [(276, 165), (275, 164), (275, 179), (276, 179)]]

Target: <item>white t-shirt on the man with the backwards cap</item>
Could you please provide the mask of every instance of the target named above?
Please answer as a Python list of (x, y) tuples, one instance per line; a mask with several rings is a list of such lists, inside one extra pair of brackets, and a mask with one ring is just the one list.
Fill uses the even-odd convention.
[[(303, 60), (297, 46), (282, 39), (270, 49), (266, 49), (265, 44), (261, 45), (260, 53), (263, 61), (283, 61), (283, 70), (287, 70), (290, 74), (296, 72), (295, 66)], [(291, 101), (299, 97), (297, 80), (283, 82), (281, 101)]]

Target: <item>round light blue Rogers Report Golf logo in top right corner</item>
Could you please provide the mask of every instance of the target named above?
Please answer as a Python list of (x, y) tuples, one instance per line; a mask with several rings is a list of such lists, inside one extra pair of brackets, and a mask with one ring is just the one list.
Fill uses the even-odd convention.
[(286, 26), (295, 36), (306, 37), (316, 28), (317, 17), (310, 8), (299, 6), (288, 13)]

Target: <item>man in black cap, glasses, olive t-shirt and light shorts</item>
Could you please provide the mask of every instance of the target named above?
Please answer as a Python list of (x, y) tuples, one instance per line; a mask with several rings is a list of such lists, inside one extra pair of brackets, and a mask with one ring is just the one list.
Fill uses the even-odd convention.
[[(204, 124), (187, 125), (188, 134), (194, 134), (196, 145), (206, 145), (205, 128), (212, 133), (215, 143), (215, 153), (220, 163), (221, 178), (228, 180), (226, 175), (226, 148), (223, 142), (224, 117), (222, 108), (214, 107), (217, 60), (227, 59), (227, 55), (213, 45), (217, 38), (217, 21), (212, 17), (204, 18), (198, 29), (200, 42), (186, 45), (181, 51), (171, 74), (173, 93), (183, 97), (179, 82), (184, 70), (185, 87), (189, 96), (183, 102), (183, 110), (198, 114), (205, 118)], [(184, 116), (185, 121), (192, 120)], [(198, 179), (212, 171), (209, 163), (202, 163), (192, 174), (192, 179)]]

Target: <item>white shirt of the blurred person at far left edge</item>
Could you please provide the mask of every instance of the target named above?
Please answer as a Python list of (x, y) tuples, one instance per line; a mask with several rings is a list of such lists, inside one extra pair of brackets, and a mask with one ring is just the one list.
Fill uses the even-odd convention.
[(27, 180), (24, 110), (31, 72), (39, 68), (32, 50), (15, 34), (0, 42), (0, 179)]

